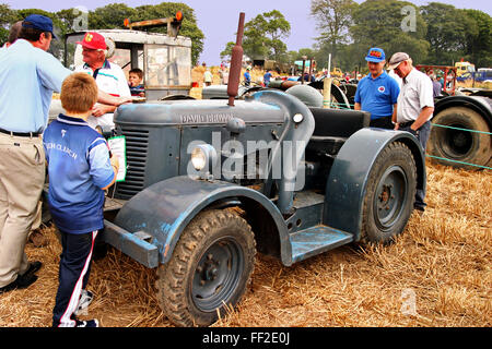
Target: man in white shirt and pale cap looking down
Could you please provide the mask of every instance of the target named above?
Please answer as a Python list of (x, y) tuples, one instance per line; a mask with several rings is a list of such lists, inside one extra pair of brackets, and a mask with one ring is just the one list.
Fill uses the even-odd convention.
[[(434, 97), (431, 79), (412, 65), (410, 56), (405, 52), (393, 55), (389, 69), (403, 81), (398, 96), (398, 110), (394, 116), (395, 130), (412, 133), (425, 153), (431, 134), (431, 118), (434, 112)], [(425, 210), (425, 188), (417, 190), (414, 208)]]

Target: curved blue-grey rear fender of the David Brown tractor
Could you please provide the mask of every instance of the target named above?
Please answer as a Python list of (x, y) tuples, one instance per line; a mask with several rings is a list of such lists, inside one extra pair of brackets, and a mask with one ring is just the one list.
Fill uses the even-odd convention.
[(365, 128), (350, 136), (333, 161), (326, 186), (324, 224), (354, 234), (359, 241), (366, 183), (376, 158), (385, 147), (401, 142), (417, 165), (417, 188), (425, 188), (425, 156), (409, 132)]

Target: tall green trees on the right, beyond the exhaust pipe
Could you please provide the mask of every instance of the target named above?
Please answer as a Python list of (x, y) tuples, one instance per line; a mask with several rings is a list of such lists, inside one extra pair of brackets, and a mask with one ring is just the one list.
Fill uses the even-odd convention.
[[(272, 59), (292, 63), (302, 56), (314, 58), (318, 67), (332, 65), (344, 71), (365, 67), (371, 47), (389, 56), (405, 51), (419, 64), (454, 65), (461, 59), (477, 67), (492, 65), (492, 19), (479, 10), (461, 10), (431, 2), (418, 7), (408, 1), (312, 0), (311, 15), (318, 36), (312, 48), (289, 51), (282, 39), (290, 35), (290, 23), (279, 11), (258, 14), (245, 24), (244, 51), (251, 59)], [(234, 43), (221, 52), (230, 55)]]

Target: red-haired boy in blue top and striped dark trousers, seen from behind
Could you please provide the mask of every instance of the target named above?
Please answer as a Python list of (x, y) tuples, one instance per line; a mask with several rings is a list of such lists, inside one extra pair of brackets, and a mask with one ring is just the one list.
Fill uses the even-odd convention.
[(60, 99), (67, 113), (60, 113), (43, 135), (48, 204), (62, 245), (52, 326), (97, 327), (96, 320), (79, 321), (74, 312), (89, 280), (94, 240), (104, 226), (104, 190), (115, 182), (119, 165), (115, 156), (109, 158), (106, 141), (86, 123), (97, 100), (94, 79), (69, 75)]

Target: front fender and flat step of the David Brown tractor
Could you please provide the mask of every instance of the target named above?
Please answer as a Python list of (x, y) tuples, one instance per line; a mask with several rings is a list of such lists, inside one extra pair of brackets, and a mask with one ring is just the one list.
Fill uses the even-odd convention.
[[(261, 193), (229, 182), (208, 182), (186, 176), (156, 183), (133, 196), (121, 208), (115, 224), (125, 231), (138, 231), (147, 222), (145, 232), (153, 237), (152, 244), (159, 249), (159, 261), (164, 264), (169, 261), (183, 230), (191, 219), (207, 206), (227, 197), (237, 197), (239, 201), (244, 197), (253, 198), (270, 214), (276, 224), (274, 230), (280, 237), (281, 260), (284, 265), (290, 266), (353, 240), (350, 233), (321, 225), (289, 233), (277, 206)], [(153, 205), (149, 205), (150, 202)], [(124, 238), (128, 238), (128, 234)], [(129, 239), (126, 242), (131, 243)], [(119, 246), (121, 248), (125, 249)]]

